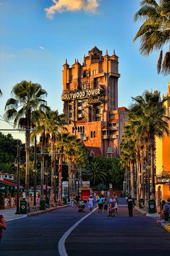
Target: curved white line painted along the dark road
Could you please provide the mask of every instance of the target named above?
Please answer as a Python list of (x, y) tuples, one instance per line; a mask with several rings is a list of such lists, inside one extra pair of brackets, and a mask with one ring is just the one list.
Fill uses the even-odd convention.
[[(96, 211), (95, 208), (94, 210), (92, 210), (92, 212)], [(89, 215), (91, 215), (91, 212), (89, 214), (87, 214), (86, 216), (84, 216), (83, 218), (81, 218), (80, 220), (78, 220), (78, 222), (76, 222), (71, 228), (69, 228), (64, 235), (62, 236), (62, 238), (60, 239), (59, 243), (58, 243), (58, 250), (59, 250), (59, 255), (60, 256), (68, 256), (67, 252), (66, 252), (66, 248), (65, 248), (65, 240), (66, 238), (69, 236), (69, 234), (72, 232), (72, 230), (74, 228), (76, 228), (76, 226), (78, 226), (78, 224), (80, 224), (80, 222), (82, 222), (85, 218), (87, 218)]]

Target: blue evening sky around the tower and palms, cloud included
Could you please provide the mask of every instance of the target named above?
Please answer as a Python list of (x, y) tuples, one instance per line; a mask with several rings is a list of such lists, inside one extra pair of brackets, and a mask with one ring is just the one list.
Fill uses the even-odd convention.
[[(143, 57), (133, 43), (140, 22), (133, 16), (141, 0), (0, 0), (0, 115), (12, 86), (21, 80), (41, 84), (47, 104), (63, 112), (61, 94), (65, 59), (71, 66), (95, 45), (119, 56), (118, 105), (144, 90), (166, 94), (169, 76), (158, 75), (159, 52)], [(165, 49), (167, 50), (167, 49)], [(2, 119), (0, 117), (0, 119)], [(12, 126), (0, 120), (0, 129)], [(8, 133), (8, 131), (7, 131)], [(12, 132), (23, 141), (24, 135)]]

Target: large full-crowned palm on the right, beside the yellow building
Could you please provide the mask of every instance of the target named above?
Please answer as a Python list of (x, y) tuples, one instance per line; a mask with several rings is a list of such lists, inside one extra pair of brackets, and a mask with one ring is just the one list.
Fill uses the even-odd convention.
[(151, 158), (151, 197), (155, 200), (155, 182), (154, 182), (154, 154), (155, 154), (155, 136), (163, 138), (166, 134), (169, 136), (169, 127), (166, 120), (166, 107), (164, 102), (170, 97), (160, 98), (160, 92), (154, 93), (145, 91), (143, 96), (132, 97), (135, 103), (131, 104), (131, 118), (129, 122), (140, 122), (136, 128), (138, 138), (147, 134)]

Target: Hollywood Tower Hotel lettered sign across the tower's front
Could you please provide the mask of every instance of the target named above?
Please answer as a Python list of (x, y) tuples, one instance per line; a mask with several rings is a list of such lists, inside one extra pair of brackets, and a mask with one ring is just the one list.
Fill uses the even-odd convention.
[(89, 90), (82, 90), (82, 91), (70, 91), (64, 90), (63, 94), (61, 95), (61, 100), (77, 100), (81, 98), (89, 98), (89, 104), (100, 102), (100, 89), (89, 89)]

